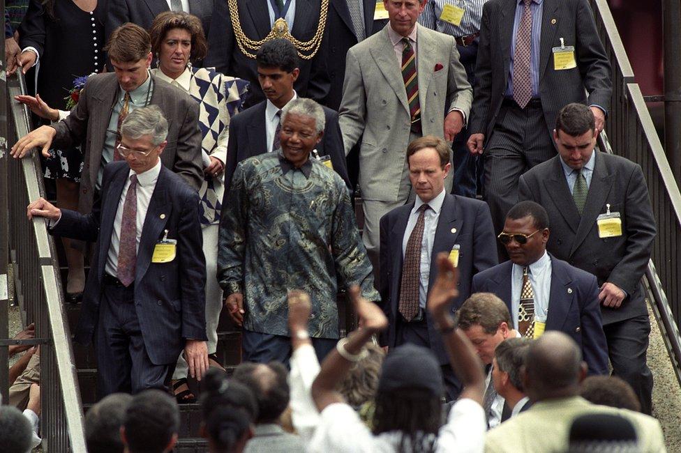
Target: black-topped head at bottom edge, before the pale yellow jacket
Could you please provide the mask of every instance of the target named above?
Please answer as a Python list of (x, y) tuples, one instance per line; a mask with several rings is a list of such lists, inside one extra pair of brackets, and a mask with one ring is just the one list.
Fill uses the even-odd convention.
[(634, 425), (624, 417), (588, 414), (577, 417), (570, 428), (569, 453), (640, 452)]

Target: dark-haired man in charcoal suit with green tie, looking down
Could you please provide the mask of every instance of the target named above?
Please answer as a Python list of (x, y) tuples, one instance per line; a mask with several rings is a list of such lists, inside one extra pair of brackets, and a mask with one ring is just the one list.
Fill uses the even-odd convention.
[[(656, 227), (643, 171), (595, 150), (594, 118), (583, 105), (562, 109), (554, 137), (560, 155), (521, 176), (520, 198), (548, 212), (553, 233), (548, 251), (596, 275), (613, 374), (634, 388), (643, 412), (650, 413), (652, 374), (645, 358), (650, 321), (641, 277)], [(608, 210), (620, 222), (609, 232), (603, 224)]]

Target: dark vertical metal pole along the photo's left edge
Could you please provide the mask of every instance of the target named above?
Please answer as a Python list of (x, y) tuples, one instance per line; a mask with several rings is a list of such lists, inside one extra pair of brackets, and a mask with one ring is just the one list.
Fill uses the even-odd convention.
[[(5, 0), (0, 0), (0, 13), (5, 20)], [(0, 339), (9, 337), (9, 287), (7, 265), (9, 259), (9, 217), (7, 204), (7, 173), (8, 173), (8, 128), (7, 128), (7, 82), (5, 64), (5, 46), (0, 49)], [(2, 401), (9, 401), (9, 364), (8, 348), (0, 347), (0, 394)]]

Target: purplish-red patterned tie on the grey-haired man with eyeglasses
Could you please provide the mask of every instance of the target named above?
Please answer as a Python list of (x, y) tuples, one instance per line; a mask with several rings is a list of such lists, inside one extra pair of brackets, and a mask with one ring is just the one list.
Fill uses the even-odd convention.
[(118, 269), (116, 277), (125, 286), (135, 281), (137, 262), (137, 175), (130, 176), (130, 186), (123, 204), (121, 237), (118, 248)]

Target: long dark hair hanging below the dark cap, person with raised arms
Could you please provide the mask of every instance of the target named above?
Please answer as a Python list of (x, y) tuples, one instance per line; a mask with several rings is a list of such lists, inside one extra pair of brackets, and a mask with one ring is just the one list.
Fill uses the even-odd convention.
[(373, 433), (401, 431), (398, 452), (434, 452), (442, 403), (429, 390), (405, 387), (376, 394)]

